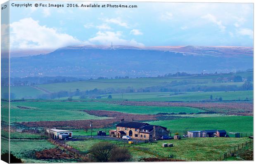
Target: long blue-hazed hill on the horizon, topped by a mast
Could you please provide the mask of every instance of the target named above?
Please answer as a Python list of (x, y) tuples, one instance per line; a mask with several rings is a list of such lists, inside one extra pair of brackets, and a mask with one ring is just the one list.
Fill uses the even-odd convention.
[(45, 55), (12, 58), (11, 76), (147, 77), (175, 72), (253, 68), (253, 48), (216, 46), (67, 46)]

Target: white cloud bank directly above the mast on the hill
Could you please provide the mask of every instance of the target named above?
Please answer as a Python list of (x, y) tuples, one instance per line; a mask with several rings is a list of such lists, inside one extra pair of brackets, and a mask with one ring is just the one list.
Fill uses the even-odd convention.
[(97, 32), (95, 37), (92, 37), (89, 40), (90, 43), (92, 44), (104, 44), (104, 45), (109, 45), (111, 42), (115, 45), (129, 45), (129, 46), (144, 46), (142, 43), (136, 42), (134, 39), (131, 40), (125, 40), (121, 39), (122, 37), (122, 32), (117, 31), (117, 32), (111, 32), (111, 31), (106, 31), (106, 32)]

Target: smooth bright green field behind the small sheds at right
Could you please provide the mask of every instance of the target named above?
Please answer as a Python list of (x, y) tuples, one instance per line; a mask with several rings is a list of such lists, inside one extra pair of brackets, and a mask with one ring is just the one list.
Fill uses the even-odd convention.
[(252, 116), (226, 116), (205, 118), (182, 118), (148, 122), (167, 127), (172, 133), (189, 130), (225, 129), (227, 132), (253, 133)]

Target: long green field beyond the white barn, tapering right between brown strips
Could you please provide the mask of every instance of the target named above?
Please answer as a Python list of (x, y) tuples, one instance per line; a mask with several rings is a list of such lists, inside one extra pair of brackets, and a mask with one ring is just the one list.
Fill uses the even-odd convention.
[[(30, 109), (20, 109), (24, 106)], [(7, 110), (7, 109), (6, 109)], [(107, 110), (136, 114), (198, 113), (201, 109), (182, 106), (123, 106), (104, 102), (24, 101), (11, 102), (11, 122), (105, 119), (81, 110)], [(28, 114), (29, 113), (29, 114)], [(4, 117), (4, 119), (7, 119)]]

